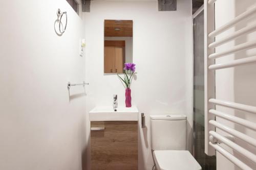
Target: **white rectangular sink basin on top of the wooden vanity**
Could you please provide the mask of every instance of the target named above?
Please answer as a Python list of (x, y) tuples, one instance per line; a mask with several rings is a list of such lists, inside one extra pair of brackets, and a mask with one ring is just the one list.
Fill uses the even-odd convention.
[(138, 109), (133, 107), (95, 107), (89, 112), (90, 121), (138, 121)]

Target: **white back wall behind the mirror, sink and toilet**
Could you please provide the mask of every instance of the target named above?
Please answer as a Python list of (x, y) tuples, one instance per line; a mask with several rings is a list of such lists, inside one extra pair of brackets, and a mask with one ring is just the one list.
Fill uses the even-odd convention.
[[(112, 106), (113, 94), (118, 95), (119, 106), (125, 105), (125, 90), (120, 80), (116, 75), (103, 73), (103, 23), (104, 19), (133, 20), (133, 62), (137, 64), (137, 76), (131, 87), (132, 104), (146, 115), (146, 128), (139, 125), (139, 169), (152, 169), (153, 166), (152, 114), (186, 114), (189, 120), (188, 148), (191, 147), (191, 1), (179, 0), (177, 3), (177, 11), (159, 12), (157, 1), (91, 1), (91, 12), (83, 15), (86, 20), (86, 77), (90, 82), (87, 115), (95, 106)], [(89, 128), (89, 123), (87, 125)]]

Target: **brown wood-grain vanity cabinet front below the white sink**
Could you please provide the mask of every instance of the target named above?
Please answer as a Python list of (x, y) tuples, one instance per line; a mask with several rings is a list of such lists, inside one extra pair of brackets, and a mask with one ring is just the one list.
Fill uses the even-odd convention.
[(138, 169), (138, 122), (91, 122), (91, 128), (104, 127), (104, 131), (91, 131), (92, 170)]

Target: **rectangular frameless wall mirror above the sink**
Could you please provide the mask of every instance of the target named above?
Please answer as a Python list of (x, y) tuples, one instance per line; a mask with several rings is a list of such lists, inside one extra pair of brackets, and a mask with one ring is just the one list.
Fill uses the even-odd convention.
[(133, 62), (133, 21), (104, 20), (104, 73), (122, 74)]

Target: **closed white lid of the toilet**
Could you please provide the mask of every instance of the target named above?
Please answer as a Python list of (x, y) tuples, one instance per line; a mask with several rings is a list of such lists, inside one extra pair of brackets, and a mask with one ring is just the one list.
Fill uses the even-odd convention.
[(158, 170), (201, 170), (201, 166), (188, 151), (154, 151)]

